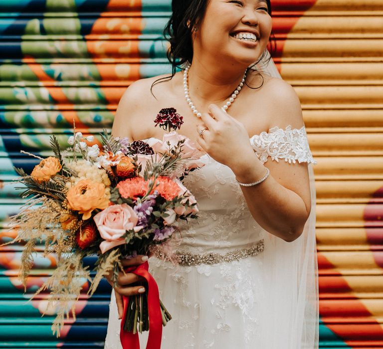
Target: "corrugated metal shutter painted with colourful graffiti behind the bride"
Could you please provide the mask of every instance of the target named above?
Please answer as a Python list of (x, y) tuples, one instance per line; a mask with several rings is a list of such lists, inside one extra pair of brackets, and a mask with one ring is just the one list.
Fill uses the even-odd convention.
[[(383, 348), (383, 2), (272, 0), (275, 61), (302, 102), (318, 161), (321, 348)], [(0, 1), (0, 233), (22, 204), (13, 166), (31, 171), (71, 133), (111, 128), (139, 78), (169, 72), (162, 29), (170, 0)], [(98, 142), (96, 140), (96, 142)], [(87, 283), (59, 339), (46, 296), (27, 303), (55, 266), (36, 259), (26, 293), (22, 246), (0, 249), (0, 348), (102, 348), (110, 288)], [(92, 263), (90, 260), (89, 263)]]

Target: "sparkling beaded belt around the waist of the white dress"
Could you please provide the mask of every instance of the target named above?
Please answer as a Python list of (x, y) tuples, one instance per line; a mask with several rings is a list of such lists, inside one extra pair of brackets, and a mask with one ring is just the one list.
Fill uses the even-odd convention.
[(237, 249), (227, 252), (225, 254), (219, 254), (214, 252), (208, 252), (204, 254), (194, 254), (189, 252), (177, 251), (172, 255), (172, 258), (168, 258), (163, 252), (156, 250), (155, 256), (157, 258), (164, 258), (168, 260), (174, 260), (183, 266), (199, 265), (199, 264), (216, 264), (222, 262), (233, 262), (235, 260), (243, 259), (249, 256), (255, 256), (259, 252), (264, 250), (264, 240), (258, 241), (255, 245)]

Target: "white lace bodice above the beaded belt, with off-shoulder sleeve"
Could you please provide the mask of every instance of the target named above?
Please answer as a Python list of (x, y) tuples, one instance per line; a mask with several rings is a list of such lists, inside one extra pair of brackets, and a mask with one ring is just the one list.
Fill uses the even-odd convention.
[[(262, 163), (271, 157), (275, 161), (316, 164), (304, 126), (301, 129), (291, 129), (290, 125), (286, 129), (273, 127), (269, 132), (251, 137), (250, 143)], [(225, 253), (260, 240), (265, 231), (247, 209), (234, 173), (207, 154), (202, 161), (205, 166), (184, 179), (198, 202), (199, 219), (182, 223), (179, 249), (192, 253)]]

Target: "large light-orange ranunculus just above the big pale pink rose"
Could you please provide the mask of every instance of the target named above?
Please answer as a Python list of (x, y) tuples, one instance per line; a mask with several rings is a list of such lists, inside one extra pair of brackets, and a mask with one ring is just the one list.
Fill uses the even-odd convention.
[(89, 219), (94, 209), (104, 209), (109, 205), (105, 185), (91, 179), (81, 179), (68, 190), (66, 199), (70, 209), (83, 214), (83, 220)]

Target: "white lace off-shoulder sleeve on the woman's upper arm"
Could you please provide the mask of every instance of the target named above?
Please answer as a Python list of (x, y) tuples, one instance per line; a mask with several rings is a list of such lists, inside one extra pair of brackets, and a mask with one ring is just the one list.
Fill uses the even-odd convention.
[(304, 126), (291, 129), (289, 125), (285, 130), (276, 126), (269, 129), (269, 132), (251, 137), (250, 143), (262, 163), (267, 161), (267, 157), (271, 157), (276, 162), (278, 159), (285, 159), (290, 164), (295, 164), (297, 160), (299, 163), (317, 164), (311, 154)]

